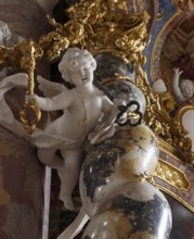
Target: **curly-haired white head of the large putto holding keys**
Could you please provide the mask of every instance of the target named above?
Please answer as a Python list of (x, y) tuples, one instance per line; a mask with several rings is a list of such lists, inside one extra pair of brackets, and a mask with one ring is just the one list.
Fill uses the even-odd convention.
[(69, 83), (75, 80), (93, 80), (93, 71), (96, 68), (96, 61), (87, 50), (69, 48), (63, 55), (59, 70), (62, 77)]

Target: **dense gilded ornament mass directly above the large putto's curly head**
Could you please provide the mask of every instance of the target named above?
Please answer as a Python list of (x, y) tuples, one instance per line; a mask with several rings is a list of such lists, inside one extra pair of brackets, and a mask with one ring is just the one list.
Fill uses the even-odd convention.
[[(82, 1), (68, 10), (73, 22), (82, 22), (85, 36), (79, 43), (93, 54), (111, 52), (126, 62), (143, 64), (142, 54), (147, 37), (146, 12), (130, 15), (125, 8), (126, 1), (99, 0), (91, 4)], [(113, 9), (119, 9), (117, 13)]]

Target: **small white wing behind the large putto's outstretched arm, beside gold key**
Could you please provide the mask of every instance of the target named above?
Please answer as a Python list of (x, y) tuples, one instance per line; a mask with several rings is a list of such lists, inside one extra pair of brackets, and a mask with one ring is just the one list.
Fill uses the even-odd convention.
[(63, 84), (49, 81), (41, 76), (37, 77), (39, 89), (43, 92), (44, 97), (52, 98), (60, 95), (66, 88)]

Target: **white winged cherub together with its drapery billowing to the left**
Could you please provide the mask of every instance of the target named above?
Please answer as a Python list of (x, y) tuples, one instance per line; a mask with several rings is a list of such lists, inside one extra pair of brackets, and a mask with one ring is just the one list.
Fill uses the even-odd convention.
[(113, 103), (93, 85), (95, 67), (96, 62), (87, 50), (69, 48), (59, 70), (62, 78), (73, 83), (75, 88), (69, 90), (63, 84), (37, 77), (39, 88), (47, 97), (33, 96), (37, 106), (42, 111), (62, 110), (63, 114), (48, 123), (44, 129), (36, 128), (33, 135), (22, 130), (22, 124), (14, 117), (3, 97), (13, 87), (27, 88), (27, 75), (18, 73), (0, 81), (0, 124), (36, 146), (39, 160), (57, 169), (61, 178), (60, 199), (68, 210), (74, 209), (72, 192), (79, 178), (85, 141), (89, 139), (94, 144), (112, 137), (118, 105), (125, 104), (119, 99)]

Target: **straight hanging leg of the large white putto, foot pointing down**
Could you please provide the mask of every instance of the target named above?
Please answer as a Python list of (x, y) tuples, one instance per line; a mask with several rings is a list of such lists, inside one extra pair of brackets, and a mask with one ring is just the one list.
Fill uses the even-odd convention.
[(82, 149), (64, 150), (61, 151), (61, 154), (64, 158), (64, 169), (59, 171), (61, 178), (60, 199), (66, 209), (74, 210), (72, 193), (79, 179)]

